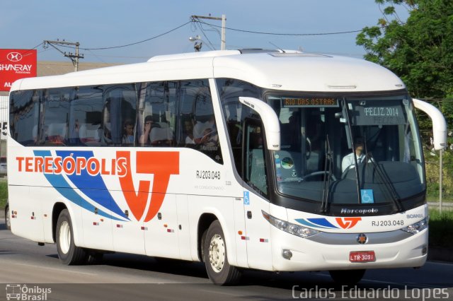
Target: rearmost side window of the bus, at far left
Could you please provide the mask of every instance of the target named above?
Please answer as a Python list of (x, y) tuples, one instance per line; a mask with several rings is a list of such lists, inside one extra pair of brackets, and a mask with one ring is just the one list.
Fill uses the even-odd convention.
[(38, 142), (40, 91), (23, 90), (11, 93), (9, 126), (11, 137), (23, 146)]

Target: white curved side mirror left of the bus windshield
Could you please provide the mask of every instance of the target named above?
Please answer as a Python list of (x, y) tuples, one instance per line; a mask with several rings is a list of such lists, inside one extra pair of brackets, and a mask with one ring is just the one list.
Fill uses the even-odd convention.
[(270, 105), (258, 98), (239, 97), (239, 101), (260, 114), (263, 120), (266, 143), (270, 151), (280, 151), (280, 122)]

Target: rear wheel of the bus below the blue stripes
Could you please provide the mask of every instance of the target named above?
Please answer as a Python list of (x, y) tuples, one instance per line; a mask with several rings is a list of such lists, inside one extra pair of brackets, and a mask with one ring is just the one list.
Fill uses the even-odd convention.
[(73, 233), (71, 216), (69, 215), (69, 211), (64, 209), (59, 213), (56, 239), (59, 260), (67, 266), (85, 264), (88, 256), (83, 248), (77, 247), (74, 244)]

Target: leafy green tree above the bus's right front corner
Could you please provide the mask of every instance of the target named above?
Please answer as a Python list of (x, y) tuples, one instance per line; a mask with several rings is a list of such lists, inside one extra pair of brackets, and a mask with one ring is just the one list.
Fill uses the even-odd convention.
[[(453, 95), (453, 1), (375, 0), (383, 18), (363, 28), (357, 45), (365, 59), (394, 71), (417, 98), (444, 99)], [(406, 22), (396, 6), (409, 11)]]

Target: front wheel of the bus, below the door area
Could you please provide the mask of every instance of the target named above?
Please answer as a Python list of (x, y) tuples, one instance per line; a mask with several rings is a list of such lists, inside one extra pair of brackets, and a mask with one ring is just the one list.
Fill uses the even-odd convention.
[(207, 276), (217, 285), (233, 285), (239, 282), (241, 272), (228, 263), (224, 232), (219, 220), (214, 220), (207, 230), (204, 246)]

